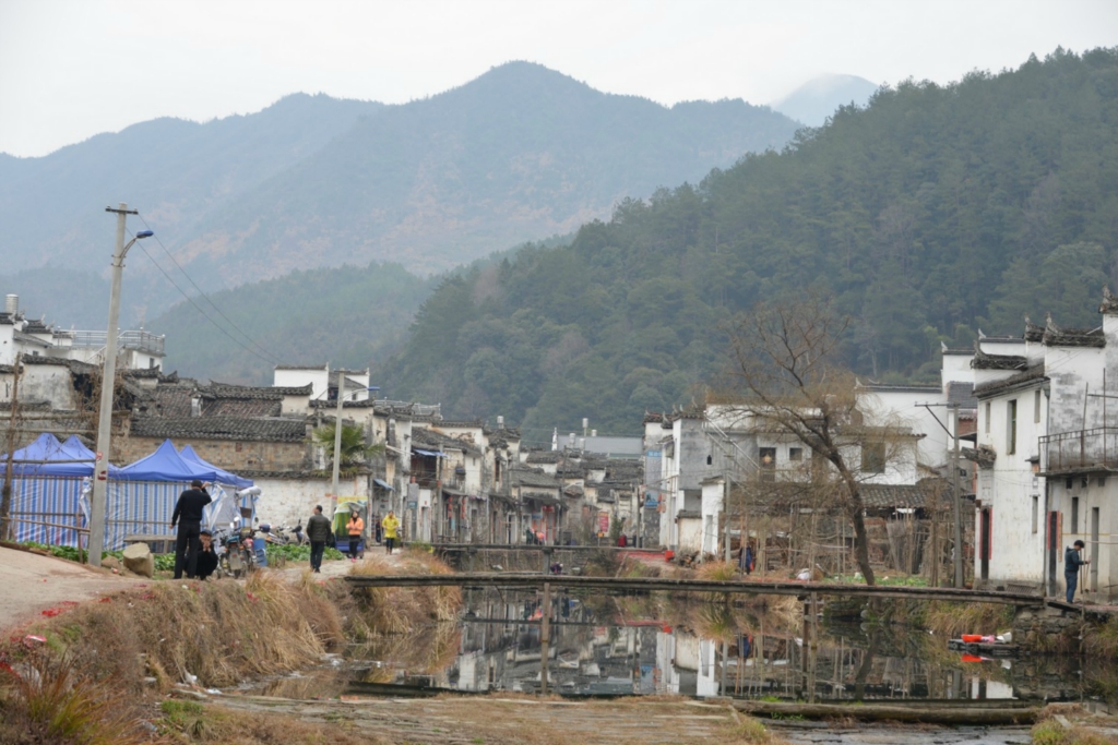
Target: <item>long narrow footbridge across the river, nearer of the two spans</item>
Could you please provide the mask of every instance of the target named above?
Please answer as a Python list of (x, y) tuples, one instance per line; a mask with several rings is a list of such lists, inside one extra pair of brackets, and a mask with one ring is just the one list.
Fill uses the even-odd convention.
[(737, 595), (840, 595), (845, 598), (889, 598), (896, 600), (945, 600), (964, 603), (1005, 605), (1044, 604), (1044, 599), (1017, 592), (957, 590), (955, 588), (910, 588), (904, 585), (831, 584), (826, 582), (742, 582), (681, 580), (664, 577), (571, 576), (513, 572), (465, 572), (458, 574), (383, 574), (347, 576), (356, 588), (457, 586), (537, 590), (544, 585), (599, 592), (703, 592)]

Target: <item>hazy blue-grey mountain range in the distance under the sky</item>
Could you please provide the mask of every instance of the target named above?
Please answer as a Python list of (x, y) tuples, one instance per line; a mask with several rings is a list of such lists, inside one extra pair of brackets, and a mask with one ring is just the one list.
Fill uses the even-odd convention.
[(143, 250), (189, 294), (176, 261), (206, 292), (371, 261), (426, 275), (608, 218), (797, 126), (742, 101), (607, 95), (528, 63), (402, 105), (299, 94), (205, 124), (155, 120), (44, 157), (0, 155), (0, 281), (48, 321), (103, 326), (103, 210), (117, 201), (162, 243), (133, 249), (125, 324), (181, 299)]

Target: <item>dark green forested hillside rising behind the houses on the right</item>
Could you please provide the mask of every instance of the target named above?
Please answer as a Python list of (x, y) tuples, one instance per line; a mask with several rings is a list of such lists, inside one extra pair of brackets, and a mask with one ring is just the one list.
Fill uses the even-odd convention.
[(1118, 50), (1058, 50), (882, 88), (784, 152), (449, 278), (381, 379), (534, 439), (584, 416), (633, 432), (719, 369), (732, 314), (812, 288), (853, 317), (858, 371), (937, 380), (941, 341), (1020, 333), (1049, 309), (1097, 323), (1116, 228)]

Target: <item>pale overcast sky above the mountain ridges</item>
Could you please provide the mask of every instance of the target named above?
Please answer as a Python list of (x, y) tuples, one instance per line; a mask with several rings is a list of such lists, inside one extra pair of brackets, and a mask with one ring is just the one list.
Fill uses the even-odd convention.
[(0, 0), (0, 152), (297, 92), (406, 103), (514, 59), (665, 105), (769, 104), (819, 75), (949, 83), (1058, 46), (1118, 46), (1118, 2)]

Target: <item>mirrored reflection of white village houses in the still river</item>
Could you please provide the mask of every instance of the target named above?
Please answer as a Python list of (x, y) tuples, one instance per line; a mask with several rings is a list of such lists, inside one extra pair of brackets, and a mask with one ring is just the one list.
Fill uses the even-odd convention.
[[(540, 688), (540, 596), (473, 591), (458, 655), (408, 682), (459, 691)], [(601, 603), (596, 603), (601, 608)], [(563, 695), (678, 694), (781, 699), (1078, 699), (1074, 658), (964, 662), (926, 631), (821, 627), (815, 649), (794, 633), (726, 624), (719, 639), (655, 620), (603, 618), (576, 596), (551, 598), (549, 688)]]

